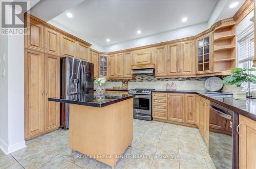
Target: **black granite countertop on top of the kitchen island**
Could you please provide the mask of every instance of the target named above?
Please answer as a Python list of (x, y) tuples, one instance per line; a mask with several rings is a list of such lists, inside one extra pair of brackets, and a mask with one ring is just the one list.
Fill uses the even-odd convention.
[(79, 104), (93, 107), (104, 107), (110, 104), (114, 104), (123, 100), (131, 99), (135, 95), (119, 95), (119, 94), (108, 94), (103, 95), (105, 98), (103, 101), (98, 101), (97, 94), (83, 94), (83, 95), (72, 95), (57, 98), (48, 98), (49, 101), (56, 101), (60, 103)]

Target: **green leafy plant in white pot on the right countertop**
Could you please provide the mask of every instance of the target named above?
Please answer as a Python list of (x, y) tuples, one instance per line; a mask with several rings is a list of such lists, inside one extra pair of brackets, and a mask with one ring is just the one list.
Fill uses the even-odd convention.
[(241, 85), (243, 82), (256, 83), (256, 76), (248, 74), (247, 71), (255, 71), (256, 69), (233, 68), (231, 75), (223, 78), (222, 83), (228, 85), (235, 85), (236, 90), (233, 92), (233, 98), (238, 100), (246, 100), (246, 91), (243, 91)]

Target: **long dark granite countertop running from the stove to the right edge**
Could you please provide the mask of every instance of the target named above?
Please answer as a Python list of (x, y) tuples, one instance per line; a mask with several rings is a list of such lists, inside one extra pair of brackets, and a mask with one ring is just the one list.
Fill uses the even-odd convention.
[[(238, 114), (248, 117), (256, 121), (256, 99), (246, 98), (246, 100), (236, 100), (232, 97), (214, 97), (209, 96), (209, 91), (166, 91), (166, 90), (154, 90), (153, 92), (164, 92), (164, 93), (189, 93), (198, 94), (212, 102), (215, 102), (223, 107), (226, 107)], [(220, 92), (222, 94), (232, 95), (228, 92)]]

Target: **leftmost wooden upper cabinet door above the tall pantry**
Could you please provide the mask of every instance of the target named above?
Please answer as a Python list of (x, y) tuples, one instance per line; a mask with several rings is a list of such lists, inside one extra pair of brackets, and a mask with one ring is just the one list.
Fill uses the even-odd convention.
[(28, 35), (25, 36), (25, 47), (44, 52), (44, 26), (27, 22)]

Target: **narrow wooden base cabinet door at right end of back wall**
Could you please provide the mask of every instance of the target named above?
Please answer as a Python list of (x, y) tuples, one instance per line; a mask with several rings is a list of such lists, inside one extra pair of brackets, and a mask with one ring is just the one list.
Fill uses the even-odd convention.
[(185, 94), (185, 108), (186, 123), (197, 124), (196, 96), (194, 94)]

